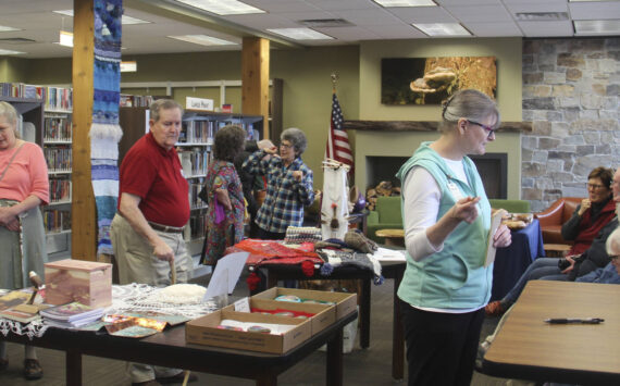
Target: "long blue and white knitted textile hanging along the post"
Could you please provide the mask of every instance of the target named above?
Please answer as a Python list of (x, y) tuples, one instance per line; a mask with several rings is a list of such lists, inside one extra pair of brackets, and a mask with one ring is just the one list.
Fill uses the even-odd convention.
[(95, 69), (90, 164), (99, 228), (97, 253), (113, 254), (110, 223), (119, 199), (122, 0), (94, 0)]

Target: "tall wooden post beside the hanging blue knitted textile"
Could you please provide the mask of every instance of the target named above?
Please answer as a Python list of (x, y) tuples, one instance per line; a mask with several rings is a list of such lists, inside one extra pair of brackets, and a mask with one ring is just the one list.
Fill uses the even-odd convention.
[(90, 178), (95, 15), (92, 0), (73, 0), (73, 174), (71, 204), (72, 258), (95, 261), (97, 216)]

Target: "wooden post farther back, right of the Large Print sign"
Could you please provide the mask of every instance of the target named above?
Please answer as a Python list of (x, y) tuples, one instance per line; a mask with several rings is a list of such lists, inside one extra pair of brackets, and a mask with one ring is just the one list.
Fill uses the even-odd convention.
[(264, 119), (264, 138), (270, 138), (269, 40), (263, 38), (244, 38), (241, 52), (241, 113), (262, 115)]

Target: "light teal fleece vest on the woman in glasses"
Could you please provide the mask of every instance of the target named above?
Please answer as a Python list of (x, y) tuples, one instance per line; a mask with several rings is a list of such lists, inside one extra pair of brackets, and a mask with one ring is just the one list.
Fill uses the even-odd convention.
[(409, 304), (423, 308), (480, 308), (488, 302), (493, 283), (493, 264), (484, 267), (491, 227), (491, 206), (471, 159), (463, 158), (469, 180), (467, 185), (454, 175), (439, 154), (429, 147), (430, 144), (423, 142), (396, 176), (405, 182), (407, 173), (413, 166), (424, 167), (431, 173), (442, 194), (437, 220), (457, 201), (448, 189), (448, 183), (455, 184), (462, 197), (481, 197), (480, 215), (472, 224), (461, 222), (446, 238), (441, 252), (427, 256), (421, 261), (414, 261), (407, 254), (407, 269), (398, 288), (398, 297)]

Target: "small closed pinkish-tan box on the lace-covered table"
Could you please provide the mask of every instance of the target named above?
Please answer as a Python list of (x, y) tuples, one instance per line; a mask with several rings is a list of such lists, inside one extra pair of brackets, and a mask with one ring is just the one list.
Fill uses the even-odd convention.
[(112, 264), (66, 259), (46, 263), (45, 267), (47, 303), (112, 304)]

